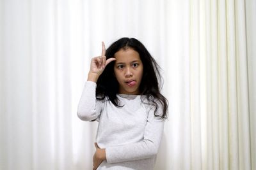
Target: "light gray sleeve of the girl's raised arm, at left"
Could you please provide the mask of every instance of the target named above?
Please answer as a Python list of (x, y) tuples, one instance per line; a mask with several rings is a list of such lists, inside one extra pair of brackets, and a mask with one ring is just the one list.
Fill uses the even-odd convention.
[(86, 81), (77, 107), (77, 117), (85, 121), (96, 120), (102, 110), (102, 104), (96, 100), (96, 83)]

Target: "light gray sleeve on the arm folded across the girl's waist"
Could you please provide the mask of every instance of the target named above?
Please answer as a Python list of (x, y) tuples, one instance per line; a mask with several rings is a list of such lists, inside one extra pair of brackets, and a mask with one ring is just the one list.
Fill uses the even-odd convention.
[(145, 126), (144, 139), (138, 143), (111, 146), (106, 148), (108, 163), (148, 159), (157, 155), (163, 136), (164, 120), (154, 117), (150, 111)]

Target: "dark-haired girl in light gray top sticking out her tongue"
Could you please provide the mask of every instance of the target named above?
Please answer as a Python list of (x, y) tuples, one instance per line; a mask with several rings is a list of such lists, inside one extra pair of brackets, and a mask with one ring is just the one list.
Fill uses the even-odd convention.
[(94, 57), (79, 101), (81, 120), (99, 122), (93, 169), (154, 168), (167, 118), (159, 66), (145, 46), (121, 38)]

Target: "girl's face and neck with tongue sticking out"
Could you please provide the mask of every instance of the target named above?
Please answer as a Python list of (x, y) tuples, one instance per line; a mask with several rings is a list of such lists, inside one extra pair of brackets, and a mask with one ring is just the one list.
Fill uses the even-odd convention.
[(140, 94), (143, 64), (135, 50), (127, 48), (115, 53), (114, 72), (119, 83), (120, 94)]

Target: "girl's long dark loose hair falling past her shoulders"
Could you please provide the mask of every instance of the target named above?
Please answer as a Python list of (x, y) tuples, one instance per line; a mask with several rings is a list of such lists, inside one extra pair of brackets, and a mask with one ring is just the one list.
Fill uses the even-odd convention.
[[(143, 76), (140, 84), (140, 94), (147, 97), (147, 101), (154, 106), (155, 117), (162, 119), (168, 117), (168, 101), (160, 92), (159, 81), (161, 80), (159, 65), (156, 60), (150, 55), (145, 46), (135, 38), (121, 38), (115, 41), (106, 50), (107, 59), (114, 57), (115, 53), (121, 49), (126, 50), (132, 48), (140, 54), (141, 62), (143, 63)], [(110, 62), (100, 74), (97, 81), (96, 96), (97, 99), (102, 100), (107, 97), (111, 103), (116, 107), (122, 107), (118, 104), (116, 94), (119, 92), (119, 84), (115, 78), (114, 62)], [(159, 80), (159, 81), (158, 81)], [(142, 101), (142, 100), (141, 100)], [(163, 114), (157, 114), (159, 104), (163, 107)]]

